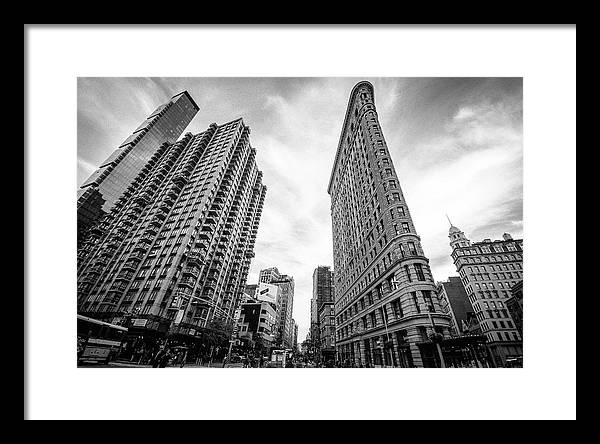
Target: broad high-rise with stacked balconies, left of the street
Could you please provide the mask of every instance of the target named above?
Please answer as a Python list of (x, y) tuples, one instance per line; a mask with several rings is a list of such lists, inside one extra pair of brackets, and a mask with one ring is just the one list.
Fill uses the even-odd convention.
[(78, 311), (144, 335), (232, 322), (266, 194), (255, 159), (242, 119), (161, 145), (79, 249)]

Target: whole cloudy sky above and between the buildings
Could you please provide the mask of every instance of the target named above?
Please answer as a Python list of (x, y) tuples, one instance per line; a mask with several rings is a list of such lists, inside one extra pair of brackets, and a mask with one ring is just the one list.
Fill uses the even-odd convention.
[(521, 78), (80, 78), (77, 183), (156, 106), (189, 91), (186, 131), (243, 117), (268, 187), (250, 269), (294, 276), (299, 341), (310, 326), (312, 272), (331, 265), (327, 185), (348, 96), (360, 80), (375, 105), (436, 280), (456, 275), (448, 221), (474, 241), (523, 231)]

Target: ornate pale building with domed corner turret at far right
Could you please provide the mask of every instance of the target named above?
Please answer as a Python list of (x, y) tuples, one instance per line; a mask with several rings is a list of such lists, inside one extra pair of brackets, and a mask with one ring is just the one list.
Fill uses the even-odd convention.
[(502, 240), (471, 243), (450, 224), (452, 259), (469, 296), (481, 334), (497, 367), (523, 358), (523, 342), (506, 306), (511, 287), (523, 280), (523, 240), (504, 233)]

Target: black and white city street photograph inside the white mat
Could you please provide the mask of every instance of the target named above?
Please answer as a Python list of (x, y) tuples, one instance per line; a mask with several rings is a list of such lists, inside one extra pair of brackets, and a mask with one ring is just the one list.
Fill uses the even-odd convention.
[(522, 366), (521, 78), (79, 78), (77, 116), (78, 365)]

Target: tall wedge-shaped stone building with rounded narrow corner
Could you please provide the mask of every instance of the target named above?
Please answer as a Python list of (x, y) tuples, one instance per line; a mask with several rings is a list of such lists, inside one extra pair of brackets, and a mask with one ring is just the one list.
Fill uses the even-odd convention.
[(357, 366), (440, 365), (437, 343), (449, 337), (450, 319), (436, 297), (369, 82), (350, 94), (328, 192), (338, 359)]

